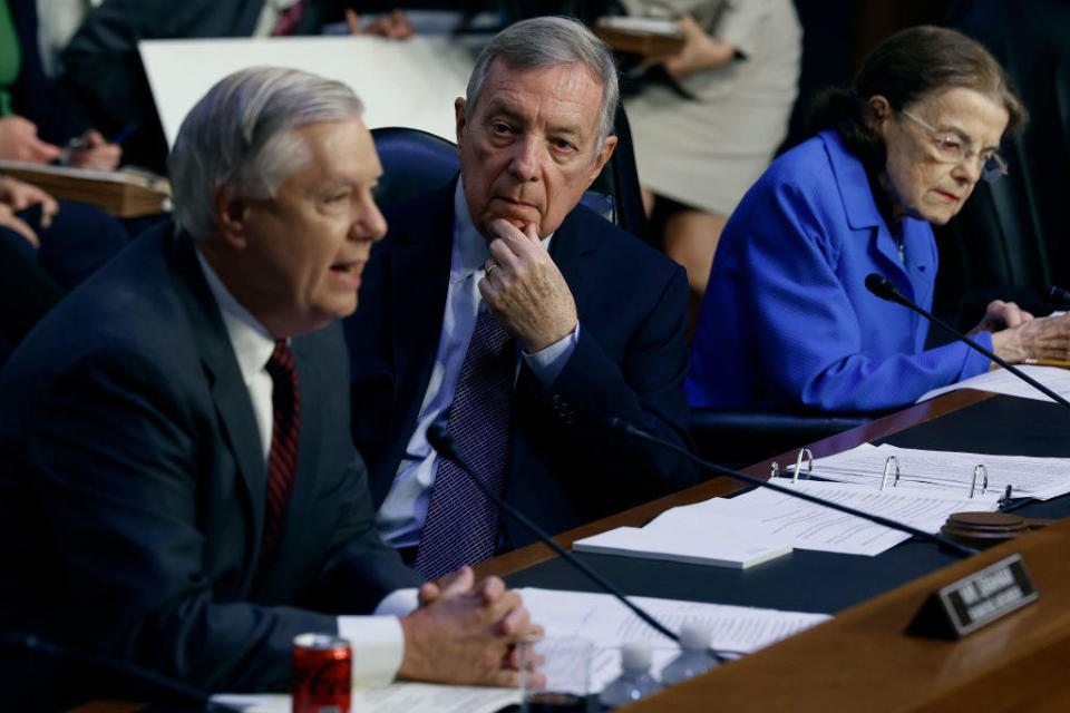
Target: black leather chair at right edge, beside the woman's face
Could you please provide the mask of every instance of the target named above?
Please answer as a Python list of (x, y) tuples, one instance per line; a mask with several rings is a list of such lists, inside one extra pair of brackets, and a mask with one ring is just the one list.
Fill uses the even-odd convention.
[(949, 25), (1000, 60), (1031, 115), (1021, 137), (1003, 143), (1010, 175), (979, 184), (937, 241), (937, 309), (957, 311), (969, 328), (989, 300), (1044, 310), (1038, 287), (1070, 284), (1070, 3), (1034, 0), (1023, 11), (1002, 0), (961, 0)]

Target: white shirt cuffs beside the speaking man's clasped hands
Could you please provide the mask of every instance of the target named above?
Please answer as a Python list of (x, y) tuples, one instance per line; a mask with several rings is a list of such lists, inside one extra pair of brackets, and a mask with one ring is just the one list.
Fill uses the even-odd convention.
[(398, 617), (417, 606), (417, 590), (398, 589), (387, 595), (372, 616), (338, 617), (338, 635), (353, 649), (354, 688), (389, 685), (405, 657), (405, 633)]

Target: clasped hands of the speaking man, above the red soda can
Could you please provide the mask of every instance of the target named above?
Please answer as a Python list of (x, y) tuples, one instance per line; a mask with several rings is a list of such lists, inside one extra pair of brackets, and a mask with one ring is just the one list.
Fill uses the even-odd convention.
[(399, 678), (519, 685), (514, 645), (542, 634), (519, 594), (497, 577), (475, 584), (471, 568), (463, 567), (439, 584), (425, 584), (419, 600), (419, 608), (401, 619), (405, 658)]

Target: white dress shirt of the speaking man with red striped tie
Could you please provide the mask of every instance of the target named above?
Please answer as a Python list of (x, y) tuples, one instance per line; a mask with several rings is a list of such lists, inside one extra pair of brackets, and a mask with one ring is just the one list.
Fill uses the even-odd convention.
[[(260, 321), (230, 293), (226, 285), (197, 250), (208, 289), (220, 305), (231, 346), (237, 358), (249, 398), (253, 404), (256, 430), (260, 432), (264, 467), (271, 452), (271, 428), (274, 409), (271, 403), (272, 380), (265, 367), (275, 349), (275, 340)], [(416, 608), (416, 589), (406, 588), (383, 597), (371, 616), (339, 616), (339, 636), (353, 647), (353, 685), (386, 685), (393, 680), (405, 655), (405, 636), (399, 616)]]

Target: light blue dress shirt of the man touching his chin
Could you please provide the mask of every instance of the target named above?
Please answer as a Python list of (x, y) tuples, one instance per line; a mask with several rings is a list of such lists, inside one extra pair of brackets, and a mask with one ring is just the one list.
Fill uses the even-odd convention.
[[(553, 235), (543, 238), (549, 250)], [(438, 470), (438, 453), (427, 442), (427, 428), (446, 421), (449, 404), (460, 375), (460, 367), (468, 351), (468, 342), (476, 331), (479, 312), (487, 306), (479, 294), (479, 281), (486, 276), (484, 265), (490, 260), (487, 241), (476, 229), (468, 215), (468, 202), (460, 178), (454, 194), (454, 246), (449, 260), (449, 286), (446, 290), (446, 309), (442, 314), (442, 333), (438, 341), (431, 379), (427, 384), (416, 430), (398, 465), (398, 473), (390, 492), (379, 508), (379, 533), (393, 547), (411, 547), (420, 541), (424, 520), (431, 499), (431, 486)], [(532, 373), (544, 385), (565, 368), (580, 338), (580, 325), (546, 349), (528, 354), (521, 352)], [(519, 371), (519, 362), (517, 362)]]

